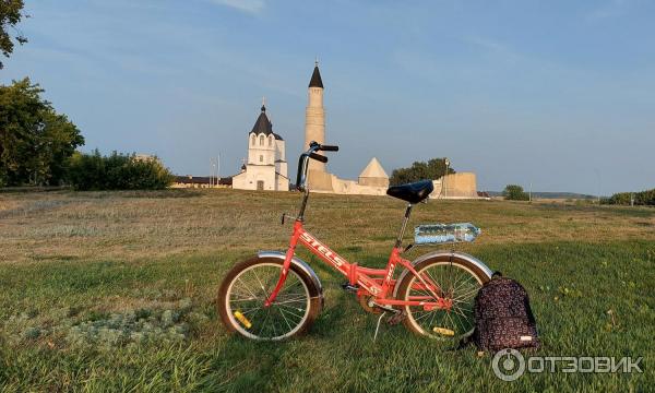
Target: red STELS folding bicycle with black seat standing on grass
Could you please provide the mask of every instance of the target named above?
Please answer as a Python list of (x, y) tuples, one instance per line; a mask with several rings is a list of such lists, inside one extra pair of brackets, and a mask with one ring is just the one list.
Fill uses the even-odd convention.
[[(309, 198), (309, 159), (323, 163), (317, 152), (336, 152), (338, 146), (315, 142), (300, 155), (296, 187), (302, 192), (294, 233), (286, 253), (260, 251), (236, 264), (223, 279), (217, 310), (230, 332), (254, 340), (283, 340), (306, 332), (323, 307), (323, 289), (318, 275), (295, 255), (298, 243), (347, 277), (344, 289), (356, 293), (361, 307), (372, 313), (402, 321), (419, 335), (460, 340), (473, 333), (475, 295), (492, 272), (478, 259), (456, 251), (436, 251), (410, 262), (402, 255), (403, 235), (415, 204), (433, 191), (430, 180), (390, 187), (386, 193), (407, 202), (400, 234), (385, 269), (369, 269), (350, 263), (303, 228)], [(282, 223), (285, 222), (285, 214)], [(394, 278), (396, 266), (403, 267)]]

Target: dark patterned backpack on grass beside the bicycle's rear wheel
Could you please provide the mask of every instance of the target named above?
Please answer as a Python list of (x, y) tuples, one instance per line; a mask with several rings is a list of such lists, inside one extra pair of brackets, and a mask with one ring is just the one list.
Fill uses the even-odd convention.
[(540, 346), (529, 299), (521, 284), (497, 273), (480, 288), (475, 298), (472, 338), (480, 350)]

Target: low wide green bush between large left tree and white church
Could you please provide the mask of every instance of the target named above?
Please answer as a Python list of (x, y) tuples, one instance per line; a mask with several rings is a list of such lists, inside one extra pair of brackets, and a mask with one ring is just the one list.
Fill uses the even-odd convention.
[(75, 190), (160, 190), (172, 179), (156, 157), (141, 159), (117, 152), (103, 156), (97, 150), (76, 152), (68, 170), (68, 181)]

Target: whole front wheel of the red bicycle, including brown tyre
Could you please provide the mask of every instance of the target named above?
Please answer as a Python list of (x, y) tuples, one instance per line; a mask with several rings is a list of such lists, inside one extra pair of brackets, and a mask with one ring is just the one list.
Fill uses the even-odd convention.
[(224, 325), (248, 338), (276, 341), (303, 333), (320, 311), (320, 298), (311, 278), (291, 265), (275, 301), (264, 302), (275, 288), (283, 262), (254, 258), (241, 262), (224, 278), (217, 309)]

